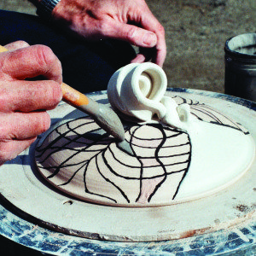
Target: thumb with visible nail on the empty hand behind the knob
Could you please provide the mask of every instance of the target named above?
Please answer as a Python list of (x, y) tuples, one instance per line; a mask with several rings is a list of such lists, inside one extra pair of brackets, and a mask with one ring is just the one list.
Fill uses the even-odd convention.
[(157, 37), (154, 32), (120, 22), (113, 22), (112, 29), (108, 32), (108, 37), (146, 48), (152, 48), (157, 43)]

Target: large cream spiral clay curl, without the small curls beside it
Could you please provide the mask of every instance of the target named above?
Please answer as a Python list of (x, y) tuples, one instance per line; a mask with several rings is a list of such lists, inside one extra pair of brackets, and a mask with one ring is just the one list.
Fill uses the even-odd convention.
[(166, 73), (154, 63), (132, 63), (121, 67), (108, 83), (108, 100), (126, 116), (149, 121), (162, 119), (166, 107), (160, 102), (166, 93)]

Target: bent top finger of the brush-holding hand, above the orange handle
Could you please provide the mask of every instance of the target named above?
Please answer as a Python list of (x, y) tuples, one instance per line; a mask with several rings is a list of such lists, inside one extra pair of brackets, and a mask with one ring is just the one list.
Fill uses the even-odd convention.
[(9, 79), (31, 79), (43, 75), (46, 79), (62, 82), (61, 62), (47, 46), (33, 45), (3, 54), (0, 67), (6, 79), (7, 76)]

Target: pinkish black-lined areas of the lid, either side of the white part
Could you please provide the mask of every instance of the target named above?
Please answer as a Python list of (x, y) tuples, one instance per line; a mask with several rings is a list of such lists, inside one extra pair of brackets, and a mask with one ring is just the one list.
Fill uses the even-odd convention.
[[(174, 99), (178, 104), (188, 103), (197, 119), (248, 133), (241, 125), (200, 102), (178, 96)], [(146, 131), (151, 131), (150, 135)], [(113, 204), (154, 201), (160, 198), (163, 184), (172, 183), (174, 177), (177, 187), (170, 187), (170, 200), (174, 200), (189, 172), (188, 134), (159, 123), (125, 123), (125, 139), (133, 155), (121, 151), (115, 139), (90, 117), (69, 120), (51, 131), (36, 148), (38, 169), (50, 183), (68, 193), (72, 193), (70, 186), (82, 183), (84, 200)], [(112, 188), (115, 193), (100, 193), (101, 189), (96, 188), (97, 178), (98, 186)], [(137, 184), (133, 199), (127, 193), (129, 183)], [(154, 184), (149, 194), (144, 189), (148, 183)]]

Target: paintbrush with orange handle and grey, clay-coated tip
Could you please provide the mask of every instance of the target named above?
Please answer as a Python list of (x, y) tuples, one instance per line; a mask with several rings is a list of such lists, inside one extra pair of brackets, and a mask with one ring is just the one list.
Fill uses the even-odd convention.
[[(0, 52), (8, 51), (0, 45)], [(118, 139), (119, 148), (125, 150), (125, 152), (132, 154), (129, 143), (125, 141), (125, 130), (122, 125), (119, 116), (108, 106), (95, 102), (88, 96), (85, 96), (78, 90), (73, 89), (67, 84), (61, 84), (62, 100), (72, 105), (74, 108), (78, 108), (84, 113), (90, 115), (92, 119), (96, 121), (104, 131), (107, 131), (110, 135)]]

